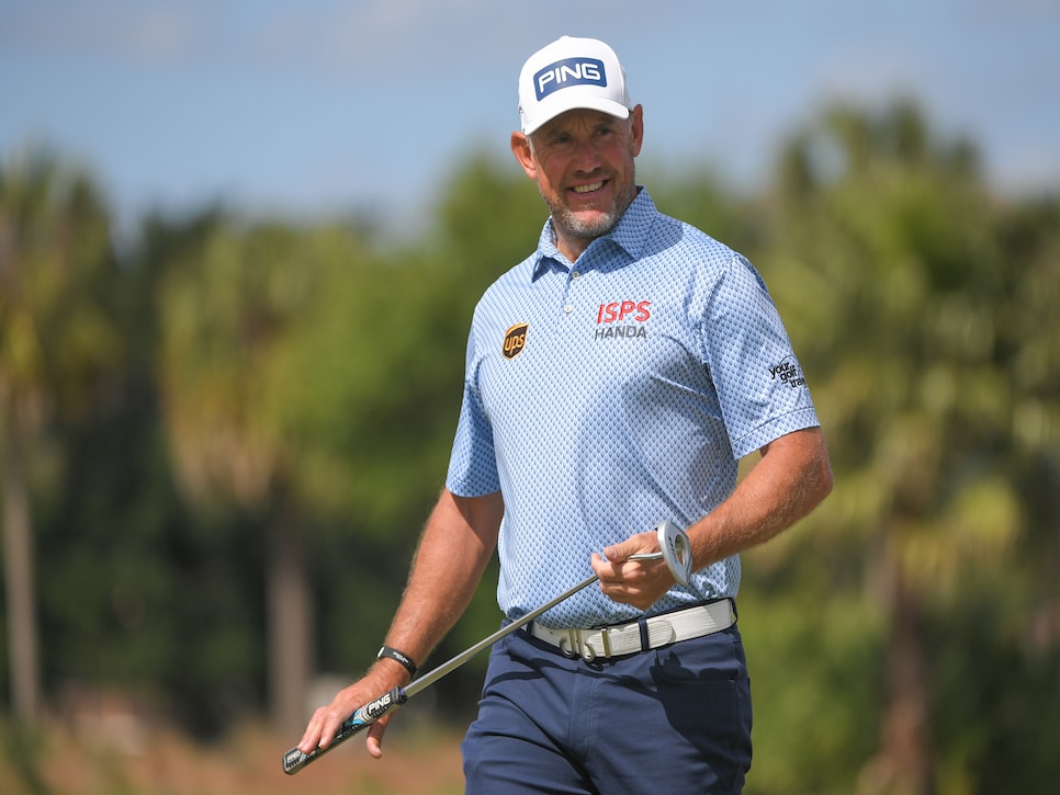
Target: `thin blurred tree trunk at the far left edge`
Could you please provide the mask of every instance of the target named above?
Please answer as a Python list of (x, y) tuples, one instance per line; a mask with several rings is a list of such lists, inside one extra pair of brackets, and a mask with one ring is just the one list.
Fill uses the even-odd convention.
[(0, 429), (3, 445), (3, 568), (8, 599), (8, 648), (14, 716), (26, 723), (40, 717), (37, 626), (33, 578), (33, 532), (21, 431), (10, 416)]

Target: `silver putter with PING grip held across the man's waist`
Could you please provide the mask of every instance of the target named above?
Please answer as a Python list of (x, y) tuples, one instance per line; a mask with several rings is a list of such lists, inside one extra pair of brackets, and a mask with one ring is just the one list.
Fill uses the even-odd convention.
[[(683, 586), (688, 584), (688, 578), (691, 575), (692, 568), (691, 545), (688, 543), (688, 536), (669, 521), (659, 522), (659, 524), (656, 525), (655, 531), (658, 534), (658, 545), (661, 552), (631, 555), (629, 558), (627, 558), (627, 560), (663, 559), (666, 561), (666, 566), (669, 568), (674, 579)], [(308, 753), (303, 753), (302, 750), (295, 746), (290, 751), (284, 753), (283, 772), (287, 775), (294, 775), (309, 762), (316, 761), (332, 748), (336, 748), (346, 740), (350, 739), (353, 735), (368, 728), (391, 709), (399, 707), (421, 690), (426, 690), (442, 677), (456, 670), (473, 657), (477, 656), (481, 651), (484, 651), (493, 646), (503, 637), (510, 635), (521, 626), (526, 626), (545, 611), (549, 611), (560, 604), (560, 602), (570, 599), (578, 591), (588, 588), (598, 579), (599, 578), (596, 575), (593, 575), (584, 582), (576, 584), (571, 590), (564, 591), (552, 601), (542, 604), (537, 610), (530, 611), (507, 626), (501, 627), (493, 635), (483, 638), (474, 646), (464, 649), (451, 660), (443, 662), (442, 665), (438, 666), (438, 668), (425, 673), (419, 679), (414, 679), (404, 688), (394, 688), (392, 691), (384, 693), (375, 701), (370, 701), (368, 704), (358, 707), (357, 712), (354, 712), (342, 723), (341, 726), (339, 726), (339, 730), (336, 732), (327, 748), (315, 748)]]

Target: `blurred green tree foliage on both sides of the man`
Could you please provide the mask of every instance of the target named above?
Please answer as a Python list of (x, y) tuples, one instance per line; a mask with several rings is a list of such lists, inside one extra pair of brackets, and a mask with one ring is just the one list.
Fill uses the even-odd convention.
[[(0, 398), (37, 407), (52, 701), (127, 688), (202, 734), (261, 709), (281, 526), (317, 669), (354, 675), (443, 482), (474, 305), (544, 223), (533, 184), (470, 156), (435, 228), (395, 248), (356, 223), (153, 217), (119, 268), (90, 180), (2, 175)], [(898, 791), (903, 666), (937, 792), (1041, 790), (1060, 773), (1060, 194), (992, 194), (909, 102), (824, 111), (758, 196), (695, 170), (650, 190), (762, 271), (836, 476), (745, 559), (748, 793)], [(496, 628), (495, 583), (435, 661)], [(474, 708), (484, 661), (437, 686), (446, 715)]]

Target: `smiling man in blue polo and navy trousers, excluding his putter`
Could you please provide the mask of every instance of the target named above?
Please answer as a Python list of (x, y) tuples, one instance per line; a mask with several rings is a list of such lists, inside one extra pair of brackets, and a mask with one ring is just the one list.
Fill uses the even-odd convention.
[[(467, 792), (740, 792), (737, 554), (831, 490), (817, 418), (756, 271), (636, 185), (643, 111), (611, 48), (553, 42), (523, 67), (519, 101), (511, 150), (550, 219), (475, 310), (447, 488), (380, 659), (300, 748), (326, 747), (356, 707), (410, 679), (496, 549), (508, 621), (589, 567), (600, 587), (492, 649), (462, 747)], [(662, 520), (687, 529), (685, 587), (663, 561), (629, 559), (658, 549)], [(369, 729), (373, 757), (386, 723)]]

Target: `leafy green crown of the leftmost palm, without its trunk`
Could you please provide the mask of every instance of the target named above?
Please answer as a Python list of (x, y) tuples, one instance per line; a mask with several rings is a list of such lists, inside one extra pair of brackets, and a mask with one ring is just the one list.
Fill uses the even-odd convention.
[(0, 395), (23, 422), (77, 412), (122, 357), (103, 197), (82, 170), (30, 150), (0, 171)]

